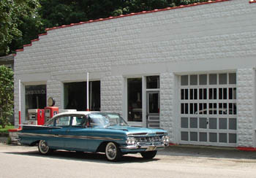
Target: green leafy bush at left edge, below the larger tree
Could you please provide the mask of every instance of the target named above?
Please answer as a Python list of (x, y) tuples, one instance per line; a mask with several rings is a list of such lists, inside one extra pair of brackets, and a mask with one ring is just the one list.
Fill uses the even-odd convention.
[(13, 113), (13, 71), (6, 66), (0, 66), (0, 125), (10, 124), (9, 117)]

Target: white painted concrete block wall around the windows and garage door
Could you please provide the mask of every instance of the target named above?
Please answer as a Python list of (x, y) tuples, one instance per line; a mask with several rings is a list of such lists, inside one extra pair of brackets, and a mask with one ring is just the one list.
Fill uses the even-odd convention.
[[(241, 68), (241, 90), (243, 69), (256, 66), (255, 12), (256, 4), (232, 0), (50, 30), (15, 56), (16, 123), (19, 79), (23, 85), (46, 83), (48, 97), (63, 107), (63, 82), (85, 81), (89, 71), (91, 80), (101, 80), (102, 111), (122, 112), (124, 77), (160, 74), (161, 126), (174, 141), (174, 74)], [(248, 105), (243, 98), (240, 104)], [(239, 145), (252, 145), (250, 121), (251, 115), (238, 111)]]

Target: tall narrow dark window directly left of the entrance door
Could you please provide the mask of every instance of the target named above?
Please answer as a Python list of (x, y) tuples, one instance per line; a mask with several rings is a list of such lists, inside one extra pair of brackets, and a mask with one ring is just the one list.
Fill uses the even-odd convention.
[(142, 122), (142, 79), (127, 79), (128, 121)]

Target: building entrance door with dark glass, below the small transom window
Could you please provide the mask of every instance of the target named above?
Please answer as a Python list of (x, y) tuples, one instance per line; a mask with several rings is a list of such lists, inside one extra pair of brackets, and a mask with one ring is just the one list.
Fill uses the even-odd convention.
[(147, 127), (159, 128), (159, 91), (147, 92)]

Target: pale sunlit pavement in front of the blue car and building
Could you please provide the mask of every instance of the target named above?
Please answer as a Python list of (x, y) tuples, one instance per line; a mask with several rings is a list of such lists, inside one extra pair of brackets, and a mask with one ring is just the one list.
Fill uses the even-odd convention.
[(0, 177), (4, 178), (256, 177), (256, 152), (221, 147), (172, 146), (159, 151), (153, 160), (129, 154), (112, 163), (104, 154), (59, 150), (40, 155), (37, 147), (0, 143), (0, 160)]

